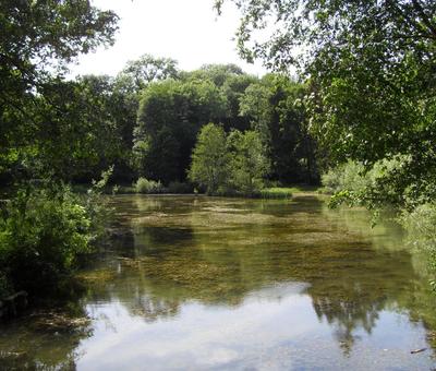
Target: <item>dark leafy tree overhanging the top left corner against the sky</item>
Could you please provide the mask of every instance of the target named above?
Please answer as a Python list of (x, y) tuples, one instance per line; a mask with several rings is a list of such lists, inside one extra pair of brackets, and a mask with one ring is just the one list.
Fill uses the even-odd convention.
[[(60, 103), (59, 94), (69, 96), (73, 89), (71, 84), (62, 83), (62, 73), (78, 53), (100, 44), (112, 44), (117, 21), (114, 13), (100, 11), (86, 0), (1, 2), (0, 168), (3, 172), (10, 172), (14, 164), (20, 168), (23, 158), (38, 155), (40, 144), (47, 144), (47, 131), (56, 134), (51, 131), (53, 125), (73, 124), (74, 121), (62, 121), (56, 106)], [(60, 154), (66, 143), (53, 139), (51, 146), (58, 145)]]

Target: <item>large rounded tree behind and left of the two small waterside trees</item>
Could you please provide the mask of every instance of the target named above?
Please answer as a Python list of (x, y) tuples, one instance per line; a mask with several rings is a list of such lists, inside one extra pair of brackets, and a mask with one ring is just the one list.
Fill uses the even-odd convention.
[[(135, 130), (140, 173), (165, 183), (184, 180), (197, 132), (225, 109), (225, 98), (209, 81), (150, 84), (143, 93)], [(171, 151), (162, 141), (171, 142)]]

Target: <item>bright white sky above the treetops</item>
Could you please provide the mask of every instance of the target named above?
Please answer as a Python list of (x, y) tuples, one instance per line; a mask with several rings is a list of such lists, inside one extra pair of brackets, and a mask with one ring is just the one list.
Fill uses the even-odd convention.
[(112, 47), (81, 56), (71, 74), (116, 75), (126, 61), (144, 53), (175, 59), (185, 71), (206, 63), (235, 63), (245, 72), (263, 75), (262, 63), (247, 64), (238, 57), (232, 39), (239, 24), (237, 9), (228, 3), (221, 16), (213, 0), (94, 0), (119, 16)]

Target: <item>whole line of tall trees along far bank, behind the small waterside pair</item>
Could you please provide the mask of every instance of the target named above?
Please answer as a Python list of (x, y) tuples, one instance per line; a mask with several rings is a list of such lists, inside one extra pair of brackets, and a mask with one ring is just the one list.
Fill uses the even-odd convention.
[(2, 156), (9, 160), (2, 177), (24, 171), (90, 182), (113, 165), (113, 182), (131, 183), (137, 177), (165, 184), (185, 181), (197, 134), (214, 122), (226, 132), (259, 134), (271, 163), (265, 178), (316, 182), (304, 92), (304, 85), (283, 75), (258, 79), (232, 64), (185, 72), (173, 60), (150, 56), (129, 62), (116, 77), (58, 80), (32, 98), (45, 109), (37, 151), (32, 144), (19, 151), (14, 142)]

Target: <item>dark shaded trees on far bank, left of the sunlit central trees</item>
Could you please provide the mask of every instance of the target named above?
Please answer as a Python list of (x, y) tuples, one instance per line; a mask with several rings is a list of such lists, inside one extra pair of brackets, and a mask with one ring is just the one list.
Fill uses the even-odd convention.
[(129, 177), (135, 115), (129, 115), (132, 103), (118, 93), (112, 79), (52, 82), (35, 100), (38, 107), (31, 112), (38, 124), (37, 140), (21, 148), (17, 158), (27, 177), (50, 173), (64, 181), (89, 182), (111, 164), (116, 175), (124, 171)]

